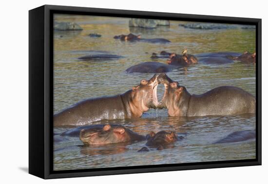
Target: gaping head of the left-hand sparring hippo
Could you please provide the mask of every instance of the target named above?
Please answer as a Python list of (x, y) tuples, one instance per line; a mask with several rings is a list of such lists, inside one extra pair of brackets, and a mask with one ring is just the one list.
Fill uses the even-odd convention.
[[(130, 92), (130, 109), (132, 112), (142, 114), (150, 108), (157, 108), (157, 81), (158, 74), (154, 74), (150, 80), (142, 79), (140, 84), (134, 86)], [(140, 116), (137, 116), (140, 117)]]

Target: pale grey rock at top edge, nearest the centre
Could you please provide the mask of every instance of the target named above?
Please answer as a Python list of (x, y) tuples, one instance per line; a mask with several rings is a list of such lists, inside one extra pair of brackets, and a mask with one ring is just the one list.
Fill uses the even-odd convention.
[(142, 28), (156, 28), (157, 25), (169, 26), (169, 20), (155, 20), (155, 19), (143, 19), (143, 18), (131, 18), (129, 20), (130, 27), (142, 27)]

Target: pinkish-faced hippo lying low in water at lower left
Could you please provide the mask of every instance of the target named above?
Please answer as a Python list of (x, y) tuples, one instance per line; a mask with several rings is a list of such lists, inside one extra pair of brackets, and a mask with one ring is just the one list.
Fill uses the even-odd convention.
[(144, 141), (146, 137), (120, 125), (102, 125), (91, 129), (82, 129), (80, 140), (85, 145), (105, 145), (111, 143)]

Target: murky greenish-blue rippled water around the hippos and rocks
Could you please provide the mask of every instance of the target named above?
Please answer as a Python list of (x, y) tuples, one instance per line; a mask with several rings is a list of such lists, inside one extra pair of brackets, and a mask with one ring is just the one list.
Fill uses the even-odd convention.
[[(78, 32), (55, 32), (54, 53), (54, 111), (55, 113), (83, 99), (115, 95), (138, 85), (140, 80), (153, 74), (126, 74), (125, 70), (144, 61), (151, 61), (153, 52), (162, 50), (189, 54), (207, 52), (253, 52), (255, 30), (191, 30), (179, 27), (181, 22), (172, 21), (170, 28), (153, 30), (131, 29), (128, 18), (57, 16), (58, 21), (75, 21), (83, 27)], [(115, 35), (141, 34), (143, 38), (166, 38), (169, 44), (144, 42), (121, 42)], [(101, 34), (100, 38), (88, 37), (90, 33)], [(61, 37), (63, 36), (63, 37)], [(81, 61), (77, 57), (108, 52), (122, 55), (118, 60)], [(165, 63), (159, 59), (158, 62)], [(212, 88), (230, 85), (240, 87), (255, 95), (255, 66), (235, 62), (225, 65), (197, 64), (168, 73), (173, 80), (186, 86), (190, 93), (203, 93)], [(163, 94), (163, 85), (158, 86), (158, 95)], [(140, 134), (151, 130), (187, 132), (187, 138), (165, 150), (137, 152), (145, 142), (111, 144), (99, 147), (84, 147), (79, 138), (54, 144), (54, 169), (82, 169), (116, 166), (139, 166), (205, 161), (254, 159), (255, 141), (229, 144), (211, 144), (238, 130), (255, 129), (255, 114), (232, 116), (209, 116), (194, 118), (168, 117), (167, 110), (149, 110), (141, 118), (101, 121), (96, 124), (122, 124)], [(94, 123), (95, 124), (95, 123)], [(63, 132), (64, 128), (54, 129)]]

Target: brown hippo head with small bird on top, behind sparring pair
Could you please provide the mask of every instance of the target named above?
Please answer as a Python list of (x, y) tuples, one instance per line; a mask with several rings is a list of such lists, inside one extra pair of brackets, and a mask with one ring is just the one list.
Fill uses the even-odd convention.
[(187, 49), (182, 52), (182, 55), (172, 53), (170, 59), (167, 60), (169, 65), (175, 65), (179, 67), (190, 66), (191, 64), (198, 63), (197, 58), (194, 55), (188, 55)]

